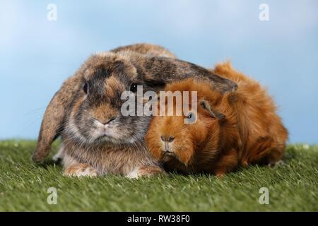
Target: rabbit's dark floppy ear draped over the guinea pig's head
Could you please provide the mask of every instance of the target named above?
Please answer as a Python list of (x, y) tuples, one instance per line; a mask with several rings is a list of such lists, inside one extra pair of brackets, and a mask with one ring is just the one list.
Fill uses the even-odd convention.
[(195, 78), (208, 81), (213, 89), (220, 93), (237, 90), (237, 84), (213, 71), (196, 64), (168, 57), (146, 57), (141, 65), (136, 65), (137, 71), (143, 76), (143, 81), (149, 86), (163, 87), (167, 83), (185, 78)]

